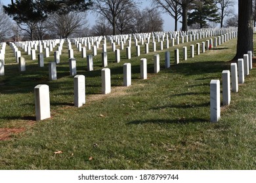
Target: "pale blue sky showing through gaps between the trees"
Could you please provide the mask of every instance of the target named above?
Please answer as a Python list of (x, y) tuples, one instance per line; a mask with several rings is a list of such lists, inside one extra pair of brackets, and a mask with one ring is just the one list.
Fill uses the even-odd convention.
[[(11, 0), (0, 0), (0, 1), (3, 3), (3, 5), (8, 5), (11, 3)], [(236, 2), (236, 5), (234, 6), (234, 9), (237, 14), (238, 13), (238, 5), (237, 5), (237, 1), (235, 1), (235, 2)], [(140, 6), (142, 8), (152, 7), (150, 5), (150, 1), (148, 1), (148, 0), (142, 1), (142, 4)], [(161, 16), (163, 18), (163, 31), (173, 31), (175, 28), (173, 18), (171, 18), (171, 16), (169, 16), (169, 14), (167, 14), (167, 13), (163, 13)], [(87, 19), (89, 20), (89, 26), (92, 27), (95, 24), (95, 20), (96, 20), (95, 14), (89, 13)], [(178, 25), (178, 30), (180, 28), (181, 28), (181, 23), (179, 23), (179, 25)]]

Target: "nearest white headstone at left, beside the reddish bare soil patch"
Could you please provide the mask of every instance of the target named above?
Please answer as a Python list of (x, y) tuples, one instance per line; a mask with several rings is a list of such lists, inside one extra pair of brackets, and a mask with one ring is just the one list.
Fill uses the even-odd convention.
[(39, 84), (34, 88), (35, 93), (35, 119), (45, 120), (51, 118), (49, 86)]

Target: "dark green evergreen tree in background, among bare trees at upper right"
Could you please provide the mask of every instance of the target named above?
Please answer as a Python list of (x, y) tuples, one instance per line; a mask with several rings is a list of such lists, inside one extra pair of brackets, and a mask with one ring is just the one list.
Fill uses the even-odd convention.
[(188, 25), (198, 24), (200, 28), (208, 27), (207, 22), (219, 22), (221, 17), (214, 0), (193, 1), (192, 12), (188, 12)]

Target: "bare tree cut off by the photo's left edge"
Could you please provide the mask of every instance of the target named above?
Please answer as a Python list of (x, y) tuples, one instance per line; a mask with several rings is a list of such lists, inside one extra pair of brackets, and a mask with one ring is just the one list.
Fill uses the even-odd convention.
[(11, 35), (12, 22), (0, 3), (0, 41)]

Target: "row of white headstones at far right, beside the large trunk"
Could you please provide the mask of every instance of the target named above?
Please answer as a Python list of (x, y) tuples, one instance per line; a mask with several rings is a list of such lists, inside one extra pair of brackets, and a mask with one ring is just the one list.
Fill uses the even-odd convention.
[[(238, 59), (238, 63), (231, 63), (231, 88), (230, 88), (230, 71), (225, 70), (222, 73), (223, 81), (223, 106), (230, 105), (232, 92), (238, 92), (238, 84), (244, 84), (245, 76), (249, 75), (252, 66), (252, 52), (244, 54), (244, 58)], [(211, 122), (218, 122), (221, 118), (221, 87), (219, 80), (211, 80), (210, 83), (210, 116)]]

